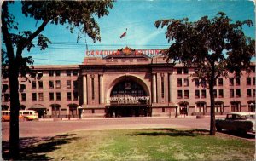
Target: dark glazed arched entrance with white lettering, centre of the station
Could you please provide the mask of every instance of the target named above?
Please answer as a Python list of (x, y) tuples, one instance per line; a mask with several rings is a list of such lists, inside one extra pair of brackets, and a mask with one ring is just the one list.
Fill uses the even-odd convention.
[(106, 106), (107, 117), (151, 116), (150, 97), (137, 81), (125, 78), (113, 86), (110, 104)]

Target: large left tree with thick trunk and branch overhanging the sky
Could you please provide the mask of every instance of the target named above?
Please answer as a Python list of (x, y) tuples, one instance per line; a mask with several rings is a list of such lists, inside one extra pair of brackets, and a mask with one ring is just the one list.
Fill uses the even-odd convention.
[[(22, 14), (31, 17), (39, 24), (35, 31), (20, 31), (15, 17), (9, 11), (11, 3), (21, 3)], [(78, 39), (88, 35), (94, 42), (100, 41), (100, 27), (95, 17), (101, 18), (108, 15), (108, 9), (113, 9), (112, 0), (104, 1), (22, 1), (2, 4), (2, 36), (4, 48), (2, 48), (3, 68), (9, 78), (10, 89), (10, 131), (9, 131), (9, 156), (19, 157), (19, 93), (18, 76), (26, 76), (33, 64), (32, 57), (23, 57), (26, 49), (33, 47), (44, 50), (51, 43), (48, 37), (43, 35), (45, 26), (49, 24), (65, 25), (73, 33), (79, 30)], [(20, 13), (21, 14), (21, 13)], [(5, 67), (7, 66), (7, 67)]]

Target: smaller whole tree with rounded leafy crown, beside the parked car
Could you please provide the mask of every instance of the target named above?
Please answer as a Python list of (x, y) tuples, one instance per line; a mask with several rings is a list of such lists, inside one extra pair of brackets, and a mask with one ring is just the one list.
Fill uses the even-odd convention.
[(211, 102), (210, 135), (215, 135), (214, 83), (219, 77), (234, 72), (250, 71), (250, 60), (255, 55), (255, 41), (245, 36), (242, 26), (253, 26), (252, 20), (233, 22), (219, 12), (214, 18), (207, 16), (190, 22), (183, 20), (157, 20), (155, 26), (167, 26), (166, 39), (171, 46), (161, 51), (167, 61), (194, 67), (193, 77), (207, 85)]

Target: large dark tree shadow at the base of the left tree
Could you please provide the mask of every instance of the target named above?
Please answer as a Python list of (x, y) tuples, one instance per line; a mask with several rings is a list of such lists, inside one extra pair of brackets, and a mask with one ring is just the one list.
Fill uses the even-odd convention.
[[(75, 134), (56, 135), (54, 137), (26, 137), (20, 138), (19, 160), (51, 160), (46, 156), (47, 152), (58, 149), (58, 146), (70, 141), (78, 140)], [(3, 141), (3, 159), (9, 160), (9, 141)]]

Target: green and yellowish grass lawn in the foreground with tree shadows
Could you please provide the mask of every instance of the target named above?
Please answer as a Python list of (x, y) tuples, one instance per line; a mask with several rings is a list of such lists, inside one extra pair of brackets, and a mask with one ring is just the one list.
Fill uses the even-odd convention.
[(79, 131), (21, 150), (26, 160), (253, 160), (253, 141), (203, 130)]

